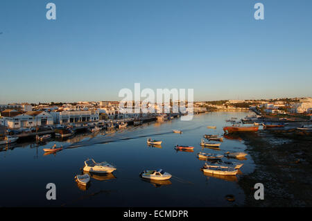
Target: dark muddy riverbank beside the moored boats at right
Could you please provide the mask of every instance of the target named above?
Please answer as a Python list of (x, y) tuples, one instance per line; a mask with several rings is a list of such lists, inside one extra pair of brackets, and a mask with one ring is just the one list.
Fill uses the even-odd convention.
[[(311, 137), (290, 139), (267, 131), (241, 135), (255, 170), (239, 179), (244, 206), (312, 206)], [(264, 185), (264, 200), (254, 200), (256, 183)]]

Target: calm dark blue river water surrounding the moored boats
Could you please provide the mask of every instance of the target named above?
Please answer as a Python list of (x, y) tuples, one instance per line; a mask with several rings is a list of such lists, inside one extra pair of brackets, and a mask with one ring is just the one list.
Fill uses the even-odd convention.
[[(243, 205), (244, 193), (236, 177), (211, 177), (202, 173), (196, 154), (202, 151), (203, 134), (223, 134), (225, 120), (238, 119), (248, 112), (211, 112), (194, 116), (192, 121), (175, 118), (164, 123), (149, 123), (128, 127), (108, 134), (79, 134), (66, 141), (51, 141), (45, 145), (18, 144), (0, 150), (0, 206), (234, 206)], [(216, 130), (207, 129), (216, 125)], [(175, 134), (172, 130), (182, 130)], [(162, 140), (162, 147), (150, 147), (149, 137)], [(64, 150), (44, 155), (43, 148), (53, 143)], [(175, 144), (193, 145), (193, 152), (177, 152)], [(204, 152), (243, 152), (245, 145), (237, 139), (224, 139), (220, 150), (205, 148)], [(84, 161), (107, 161), (116, 166), (113, 175), (94, 176), (83, 191), (74, 182)], [(241, 173), (254, 169), (250, 156), (241, 161)], [(239, 161), (231, 159), (231, 161)], [(173, 177), (164, 185), (146, 182), (141, 170), (162, 168)], [(56, 185), (56, 200), (46, 200), (46, 184)], [(252, 188), (252, 187), (251, 187)], [(235, 196), (235, 202), (225, 195)]]

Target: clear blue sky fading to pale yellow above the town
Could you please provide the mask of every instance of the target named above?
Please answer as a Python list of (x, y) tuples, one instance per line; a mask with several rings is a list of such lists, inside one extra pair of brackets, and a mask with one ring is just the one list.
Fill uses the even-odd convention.
[[(57, 19), (46, 19), (46, 3)], [(254, 3), (265, 7), (255, 20)], [(0, 103), (312, 96), (312, 1), (0, 1)]]

